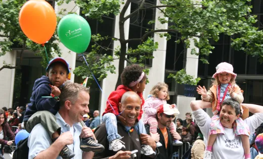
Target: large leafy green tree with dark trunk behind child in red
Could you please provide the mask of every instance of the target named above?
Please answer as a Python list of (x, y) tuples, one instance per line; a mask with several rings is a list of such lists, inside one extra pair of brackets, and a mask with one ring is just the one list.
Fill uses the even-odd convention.
[[(145, 0), (139, 1), (138, 9), (125, 16), (125, 12), (130, 5), (131, 1), (125, 2), (118, 0), (76, 0), (77, 6), (82, 9), (82, 14), (93, 19), (102, 21), (102, 16), (113, 13), (119, 15), (119, 38), (116, 37), (101, 37), (100, 35), (93, 36), (93, 52), (98, 49), (105, 48), (99, 44), (99, 40), (111, 38), (114, 41), (119, 41), (120, 47), (114, 50), (114, 55), (119, 59), (118, 81), (116, 86), (120, 84), (120, 74), (124, 69), (124, 62), (128, 64), (139, 63), (144, 66), (145, 59), (152, 59), (152, 52), (158, 48), (158, 43), (153, 41), (153, 33), (159, 33), (161, 36), (170, 38), (172, 32), (181, 33), (181, 38), (175, 42), (184, 42), (185, 46), (189, 48), (190, 39), (194, 40), (194, 44), (199, 48), (199, 52), (192, 49), (191, 54), (200, 56), (203, 63), (208, 64), (205, 59), (206, 56), (212, 53), (214, 48), (209, 43), (209, 40), (219, 40), (220, 34), (226, 35), (239, 35), (238, 38), (232, 39), (232, 47), (237, 50), (243, 50), (248, 55), (257, 56), (260, 62), (263, 62), (263, 32), (258, 31), (253, 27), (256, 22), (256, 16), (250, 15), (251, 7), (247, 6), (250, 0), (160, 0), (160, 5), (145, 7), (149, 5)], [(120, 4), (123, 8), (120, 10)], [(131, 17), (135, 17), (139, 12), (148, 9), (156, 9), (156, 12), (161, 12), (166, 18), (158, 17), (158, 20), (164, 24), (169, 23), (168, 29), (152, 29), (145, 32), (141, 38), (125, 39), (124, 22)], [(150, 21), (149, 23), (155, 23)], [(99, 36), (99, 38), (98, 38)], [(142, 44), (138, 48), (127, 48), (127, 43), (131, 41), (141, 41)], [(130, 55), (138, 55), (137, 58), (131, 58)], [(95, 56), (95, 54), (94, 54)], [(104, 56), (104, 62), (101, 65), (110, 66), (110, 61), (113, 60), (112, 56)], [(91, 58), (88, 56), (87, 58)], [(108, 60), (105, 60), (107, 59)], [(91, 62), (91, 64), (93, 64)], [(83, 71), (83, 66), (77, 68), (74, 73), (77, 75), (87, 76), (90, 74), (89, 70)], [(92, 67), (92, 65), (91, 65)], [(92, 70), (96, 70), (92, 68)], [(82, 71), (81, 71), (82, 70)], [(114, 67), (110, 69), (114, 72)], [(183, 73), (183, 74), (182, 74)], [(106, 74), (107, 75), (107, 74)], [(172, 76), (172, 75), (171, 75)], [(184, 72), (180, 72), (180, 76), (185, 76)], [(105, 77), (105, 74), (104, 74)], [(174, 76), (175, 77), (175, 76)], [(102, 79), (102, 78), (100, 78)]]

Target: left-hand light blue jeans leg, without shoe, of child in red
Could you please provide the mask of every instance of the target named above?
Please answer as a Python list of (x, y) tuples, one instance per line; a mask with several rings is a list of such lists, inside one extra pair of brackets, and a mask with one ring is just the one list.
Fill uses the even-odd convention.
[(115, 114), (106, 113), (102, 117), (102, 123), (106, 123), (106, 131), (108, 134), (108, 141), (111, 142), (112, 140), (119, 139), (121, 136), (118, 134), (117, 129), (117, 119)]

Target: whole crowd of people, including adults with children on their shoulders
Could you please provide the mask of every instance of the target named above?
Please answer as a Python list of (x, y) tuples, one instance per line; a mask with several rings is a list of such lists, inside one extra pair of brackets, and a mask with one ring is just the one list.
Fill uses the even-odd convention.
[[(135, 158), (133, 150), (138, 150), (138, 158), (166, 159), (184, 142), (192, 145), (184, 151), (192, 159), (249, 159), (263, 152), (263, 139), (259, 139), (263, 138), (263, 107), (242, 103), (243, 91), (228, 63), (216, 67), (208, 91), (197, 87), (202, 100), (191, 102), (192, 113), (186, 113), (184, 120), (177, 118), (177, 105), (167, 103), (167, 84), (157, 83), (144, 99), (147, 76), (139, 65), (124, 68), (122, 84), (109, 95), (102, 119), (98, 110), (90, 117), (89, 89), (66, 82), (69, 65), (64, 59), (51, 60), (46, 71), (35, 81), (26, 109), (0, 110), (2, 154), (2, 145), (11, 145), (20, 129), (14, 134), (10, 127), (21, 123), (30, 133), (28, 158), (36, 159)], [(212, 109), (212, 118), (205, 108)]]

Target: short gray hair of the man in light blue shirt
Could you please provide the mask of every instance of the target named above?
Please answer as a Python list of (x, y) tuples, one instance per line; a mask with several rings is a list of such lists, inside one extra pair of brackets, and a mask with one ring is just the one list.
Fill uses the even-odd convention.
[(86, 88), (86, 87), (82, 86), (81, 84), (65, 83), (62, 90), (61, 90), (61, 94), (59, 96), (60, 106), (62, 107), (65, 104), (66, 100), (69, 100), (71, 103), (74, 104), (78, 98), (78, 93), (81, 91), (84, 91), (87, 93), (90, 92), (89, 88)]

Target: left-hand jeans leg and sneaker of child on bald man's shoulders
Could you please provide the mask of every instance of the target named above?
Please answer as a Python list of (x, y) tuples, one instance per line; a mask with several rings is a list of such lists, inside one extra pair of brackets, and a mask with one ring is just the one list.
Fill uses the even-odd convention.
[(112, 113), (107, 113), (103, 116), (102, 123), (106, 123), (109, 149), (113, 151), (125, 150), (125, 143), (120, 140), (121, 136), (118, 134), (116, 116)]

